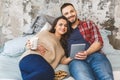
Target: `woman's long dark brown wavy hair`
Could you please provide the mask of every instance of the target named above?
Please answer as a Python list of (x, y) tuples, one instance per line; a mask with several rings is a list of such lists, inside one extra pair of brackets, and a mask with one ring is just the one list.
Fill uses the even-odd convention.
[(65, 51), (65, 54), (66, 54), (66, 56), (67, 56), (67, 39), (68, 39), (68, 37), (69, 37), (69, 35), (70, 35), (70, 33), (71, 33), (71, 27), (70, 27), (70, 22), (67, 20), (67, 18), (65, 18), (64, 16), (60, 16), (60, 17), (58, 17), (58, 18), (56, 18), (55, 20), (54, 20), (54, 22), (53, 22), (53, 24), (52, 24), (52, 28), (50, 29), (50, 31), (49, 32), (51, 32), (51, 33), (55, 33), (55, 26), (57, 25), (57, 22), (60, 20), (60, 19), (64, 19), (64, 20), (66, 20), (67, 21), (67, 32), (65, 33), (65, 34), (63, 34), (62, 36), (61, 36), (61, 39), (60, 39), (60, 43), (61, 43), (61, 45), (62, 45), (62, 47), (63, 47), (63, 49), (64, 49), (64, 51)]

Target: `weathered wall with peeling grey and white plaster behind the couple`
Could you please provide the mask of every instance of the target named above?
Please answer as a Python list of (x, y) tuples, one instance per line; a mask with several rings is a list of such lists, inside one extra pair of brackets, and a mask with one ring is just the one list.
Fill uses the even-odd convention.
[(21, 36), (37, 15), (61, 15), (60, 6), (65, 2), (75, 6), (80, 19), (110, 30), (110, 43), (120, 49), (120, 0), (0, 0), (0, 45)]

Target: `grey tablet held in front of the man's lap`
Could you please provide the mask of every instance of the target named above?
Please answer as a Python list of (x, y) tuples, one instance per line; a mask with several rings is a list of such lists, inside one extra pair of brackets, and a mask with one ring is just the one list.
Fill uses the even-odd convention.
[(72, 44), (70, 50), (70, 57), (74, 58), (75, 54), (84, 50), (85, 50), (85, 44)]

